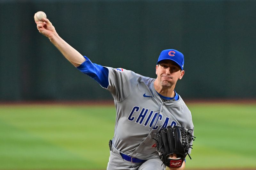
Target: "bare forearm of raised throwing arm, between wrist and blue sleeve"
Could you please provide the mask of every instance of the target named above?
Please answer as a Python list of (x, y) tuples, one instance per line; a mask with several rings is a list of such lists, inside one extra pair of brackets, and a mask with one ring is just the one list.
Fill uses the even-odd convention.
[(75, 67), (80, 66), (85, 58), (75, 48), (71, 47), (66, 41), (64, 41), (57, 33), (54, 33), (49, 40), (52, 44), (60, 50), (67, 60)]

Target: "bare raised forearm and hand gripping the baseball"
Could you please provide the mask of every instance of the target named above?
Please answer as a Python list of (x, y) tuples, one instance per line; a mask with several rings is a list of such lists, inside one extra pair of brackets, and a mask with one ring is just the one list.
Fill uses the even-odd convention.
[[(34, 15), (35, 19), (35, 15)], [(43, 21), (36, 21), (36, 27), (39, 33), (48, 37), (55, 47), (57, 47), (62, 55), (64, 55), (70, 63), (75, 67), (80, 66), (85, 58), (75, 48), (71, 47), (66, 41), (64, 41), (56, 32), (54, 26), (47, 18), (43, 18)]]

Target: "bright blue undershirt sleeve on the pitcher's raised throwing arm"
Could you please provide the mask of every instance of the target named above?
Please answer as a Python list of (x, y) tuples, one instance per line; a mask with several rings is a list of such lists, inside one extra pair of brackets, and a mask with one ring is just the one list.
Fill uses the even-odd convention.
[(99, 64), (92, 63), (86, 56), (84, 58), (85, 62), (76, 68), (96, 80), (102, 87), (108, 88), (108, 69)]

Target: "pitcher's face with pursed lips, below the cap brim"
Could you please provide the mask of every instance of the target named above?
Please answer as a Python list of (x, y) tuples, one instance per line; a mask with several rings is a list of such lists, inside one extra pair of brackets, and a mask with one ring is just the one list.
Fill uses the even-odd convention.
[(156, 75), (156, 79), (163, 87), (171, 87), (183, 77), (184, 70), (181, 70), (180, 66), (172, 60), (163, 60), (156, 65)]

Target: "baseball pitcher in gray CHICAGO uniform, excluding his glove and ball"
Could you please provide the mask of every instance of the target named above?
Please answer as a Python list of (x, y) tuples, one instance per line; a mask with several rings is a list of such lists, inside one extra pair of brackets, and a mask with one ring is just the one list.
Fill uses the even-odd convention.
[[(183, 54), (175, 49), (163, 50), (156, 64), (157, 77), (149, 78), (123, 68), (92, 63), (60, 38), (49, 19), (37, 21), (36, 25), (70, 63), (96, 80), (114, 98), (116, 124), (109, 143), (107, 170), (164, 170), (166, 167), (153, 139), (156, 132), (175, 125), (194, 129), (188, 107), (174, 90), (184, 75)], [(175, 159), (176, 155), (170, 157)], [(170, 169), (184, 168), (185, 161), (181, 167)]]

